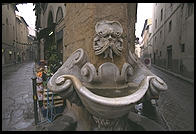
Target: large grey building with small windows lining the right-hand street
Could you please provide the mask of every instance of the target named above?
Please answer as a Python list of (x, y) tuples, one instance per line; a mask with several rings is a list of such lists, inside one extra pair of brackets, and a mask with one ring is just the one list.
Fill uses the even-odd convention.
[(194, 3), (155, 3), (149, 40), (155, 65), (194, 78)]

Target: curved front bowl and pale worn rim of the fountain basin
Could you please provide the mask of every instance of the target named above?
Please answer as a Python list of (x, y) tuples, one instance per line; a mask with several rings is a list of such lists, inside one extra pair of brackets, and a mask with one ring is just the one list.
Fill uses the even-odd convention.
[(115, 119), (129, 113), (135, 103), (141, 100), (147, 92), (150, 79), (156, 76), (147, 76), (133, 93), (121, 97), (105, 96), (96, 93), (95, 90), (89, 90), (74, 75), (61, 75), (60, 77), (71, 79), (83, 105), (92, 115), (105, 119)]

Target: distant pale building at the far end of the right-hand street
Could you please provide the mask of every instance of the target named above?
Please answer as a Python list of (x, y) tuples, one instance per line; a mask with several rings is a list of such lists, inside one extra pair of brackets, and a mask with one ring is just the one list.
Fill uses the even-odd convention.
[(151, 58), (152, 55), (152, 44), (149, 41), (149, 38), (152, 34), (152, 19), (146, 19), (144, 27), (141, 33), (142, 42), (141, 42), (141, 57), (148, 56)]

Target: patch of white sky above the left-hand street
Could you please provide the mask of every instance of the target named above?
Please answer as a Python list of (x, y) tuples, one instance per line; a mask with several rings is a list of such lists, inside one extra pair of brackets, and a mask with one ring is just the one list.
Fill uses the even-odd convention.
[(35, 12), (33, 11), (34, 5), (33, 3), (27, 3), (27, 4), (19, 4), (17, 5), (18, 11), (16, 11), (16, 14), (19, 16), (22, 16), (27, 24), (29, 25), (29, 34), (35, 36)]

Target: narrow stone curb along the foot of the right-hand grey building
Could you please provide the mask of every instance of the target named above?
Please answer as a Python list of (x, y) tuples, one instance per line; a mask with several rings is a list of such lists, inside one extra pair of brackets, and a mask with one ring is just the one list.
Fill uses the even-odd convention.
[(168, 74), (171, 74), (171, 75), (173, 75), (173, 76), (175, 76), (175, 77), (177, 77), (177, 78), (180, 78), (180, 79), (185, 80), (185, 81), (187, 81), (187, 82), (189, 82), (189, 83), (191, 83), (191, 84), (194, 84), (194, 80), (192, 80), (192, 79), (190, 79), (190, 78), (184, 77), (184, 76), (182, 76), (182, 75), (180, 75), (180, 74), (177, 74), (177, 73), (174, 73), (174, 72), (171, 72), (171, 71), (169, 71), (169, 70), (166, 70), (166, 69), (164, 69), (164, 68), (162, 68), (162, 67), (159, 67), (159, 66), (157, 66), (157, 65), (154, 65), (154, 64), (152, 64), (152, 66), (155, 67), (155, 68), (157, 68), (157, 69), (159, 69), (159, 70), (161, 70), (161, 71), (164, 71), (164, 72), (166, 72), (166, 73), (168, 73)]

